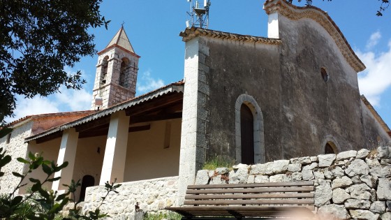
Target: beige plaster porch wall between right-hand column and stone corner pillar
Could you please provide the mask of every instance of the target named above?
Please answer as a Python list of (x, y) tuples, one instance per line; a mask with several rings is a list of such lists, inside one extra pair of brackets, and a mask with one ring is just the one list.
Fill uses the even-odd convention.
[[(181, 122), (181, 119), (152, 122), (149, 130), (128, 133), (124, 182), (178, 175)], [(170, 123), (171, 130), (167, 148), (166, 123)]]

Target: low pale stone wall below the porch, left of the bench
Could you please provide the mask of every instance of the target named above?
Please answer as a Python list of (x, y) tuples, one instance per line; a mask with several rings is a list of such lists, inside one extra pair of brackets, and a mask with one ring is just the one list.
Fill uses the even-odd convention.
[[(119, 193), (110, 193), (101, 206), (101, 212), (108, 213), (112, 219), (133, 219), (136, 203), (139, 203), (144, 212), (156, 212), (165, 207), (176, 206), (177, 184), (178, 177), (121, 183), (117, 189)], [(95, 210), (105, 194), (104, 186), (87, 188), (82, 212)]]

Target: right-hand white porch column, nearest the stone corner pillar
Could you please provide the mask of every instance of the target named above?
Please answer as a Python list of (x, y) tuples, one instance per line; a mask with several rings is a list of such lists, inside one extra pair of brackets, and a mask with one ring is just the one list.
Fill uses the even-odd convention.
[(125, 111), (112, 114), (106, 141), (100, 185), (105, 182), (124, 182), (126, 147), (128, 146), (129, 117)]

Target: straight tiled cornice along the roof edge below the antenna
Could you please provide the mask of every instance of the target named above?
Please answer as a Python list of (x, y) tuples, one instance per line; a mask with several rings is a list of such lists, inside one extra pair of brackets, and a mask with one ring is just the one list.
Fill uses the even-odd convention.
[(241, 41), (241, 42), (249, 42), (249, 43), (262, 43), (262, 44), (270, 44), (270, 45), (278, 45), (281, 43), (280, 39), (232, 34), (223, 31), (214, 31), (214, 30), (202, 29), (196, 27), (186, 28), (184, 31), (182, 31), (179, 34), (179, 36), (182, 36), (182, 41), (184, 42), (190, 41), (191, 39), (197, 36), (208, 36), (211, 38), (227, 39), (230, 41)]

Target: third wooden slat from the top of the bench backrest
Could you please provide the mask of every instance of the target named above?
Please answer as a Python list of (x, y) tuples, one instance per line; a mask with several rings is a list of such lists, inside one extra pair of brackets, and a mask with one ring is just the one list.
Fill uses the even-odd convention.
[(186, 200), (240, 199), (240, 198), (313, 198), (313, 193), (210, 194), (186, 195)]

